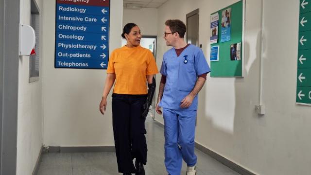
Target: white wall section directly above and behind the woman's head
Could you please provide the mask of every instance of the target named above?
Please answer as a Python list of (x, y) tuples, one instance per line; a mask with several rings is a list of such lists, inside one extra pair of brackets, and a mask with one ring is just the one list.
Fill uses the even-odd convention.
[[(157, 35), (157, 9), (123, 9), (123, 26), (133, 22), (140, 28), (142, 35)], [(123, 28), (122, 28), (123, 30)]]

